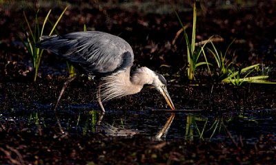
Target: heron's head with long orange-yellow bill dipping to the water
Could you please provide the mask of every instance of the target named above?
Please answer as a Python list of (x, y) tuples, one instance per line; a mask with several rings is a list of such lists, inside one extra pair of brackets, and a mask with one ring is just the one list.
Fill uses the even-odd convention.
[(154, 78), (152, 85), (155, 87), (155, 89), (157, 89), (157, 91), (159, 91), (159, 93), (162, 96), (164, 96), (170, 108), (175, 110), (175, 106), (172, 103), (172, 99), (170, 99), (170, 95), (168, 94), (166, 79), (164, 78), (164, 76), (162, 76), (161, 74), (157, 74), (156, 72), (155, 75), (156, 77)]

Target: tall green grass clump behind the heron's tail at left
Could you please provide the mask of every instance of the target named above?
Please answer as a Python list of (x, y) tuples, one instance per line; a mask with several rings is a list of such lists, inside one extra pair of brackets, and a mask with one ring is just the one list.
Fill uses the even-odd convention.
[[(52, 26), (52, 30), (50, 31), (49, 36), (52, 34), (52, 32), (54, 32), (57, 23), (59, 23), (61, 17), (63, 16), (63, 14), (66, 12), (68, 7), (66, 7), (63, 12), (61, 13), (61, 15), (59, 16), (59, 18), (57, 19), (56, 23)], [(48, 14), (46, 15), (42, 27), (40, 27), (39, 25), (39, 19), (38, 19), (38, 14), (39, 14), (39, 10), (37, 11), (37, 13), (35, 14), (34, 17), (34, 28), (32, 29), (30, 26), (30, 22), (28, 21), (25, 12), (23, 11), (23, 17), (27, 23), (27, 30), (25, 30), (23, 28), (23, 32), (26, 36), (27, 39), (27, 43), (22, 40), (23, 45), (25, 47), (27, 47), (28, 53), (31, 54), (32, 56), (32, 63), (34, 65), (34, 82), (37, 80), (37, 72), (39, 69), (39, 64), (40, 64), (40, 60), (41, 60), (41, 56), (43, 53), (43, 50), (40, 50), (38, 47), (36, 47), (36, 43), (39, 42), (39, 38), (43, 35), (43, 30), (45, 28), (46, 22), (48, 21), (48, 17), (50, 15), (51, 10), (49, 10)], [(29, 35), (30, 34), (30, 35)]]

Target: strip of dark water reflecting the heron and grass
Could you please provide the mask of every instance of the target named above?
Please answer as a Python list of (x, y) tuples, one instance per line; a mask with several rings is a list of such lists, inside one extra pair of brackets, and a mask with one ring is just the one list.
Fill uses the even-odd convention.
[[(37, 105), (37, 111), (17, 111), (1, 113), (1, 127), (5, 131), (28, 130), (40, 133), (41, 130), (55, 126), (58, 130), (55, 115), (50, 106)], [(153, 138), (164, 128), (172, 113), (146, 111), (109, 110), (103, 116), (101, 124), (97, 124), (101, 113), (91, 104), (72, 105), (58, 110), (61, 125), (68, 133), (89, 135), (103, 133), (110, 136), (131, 137), (139, 134)], [(15, 113), (16, 112), (16, 113)], [(255, 143), (264, 136), (275, 139), (276, 113), (270, 109), (245, 112), (214, 113), (173, 113), (174, 119), (164, 140), (207, 140)]]

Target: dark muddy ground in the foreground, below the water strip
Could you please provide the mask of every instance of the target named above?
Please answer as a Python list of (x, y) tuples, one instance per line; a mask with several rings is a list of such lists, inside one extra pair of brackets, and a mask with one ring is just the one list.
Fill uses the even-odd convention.
[[(228, 142), (154, 142), (144, 137), (53, 137), (1, 132), (1, 164), (274, 164), (275, 137), (255, 145)], [(274, 138), (274, 140), (272, 140)], [(12, 162), (13, 160), (13, 162)]]

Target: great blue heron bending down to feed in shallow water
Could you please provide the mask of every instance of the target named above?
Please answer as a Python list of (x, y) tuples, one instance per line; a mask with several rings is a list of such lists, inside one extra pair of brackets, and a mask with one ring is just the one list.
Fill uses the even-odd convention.
[[(140, 67), (130, 75), (134, 54), (130, 45), (119, 36), (97, 31), (42, 36), (37, 47), (63, 56), (88, 76), (99, 77), (101, 83), (97, 89), (97, 99), (103, 112), (105, 110), (101, 100), (137, 94), (145, 84), (155, 87), (164, 96), (170, 108), (175, 109), (164, 76), (148, 67)], [(74, 78), (64, 83), (55, 109), (64, 89), (72, 79)]]

